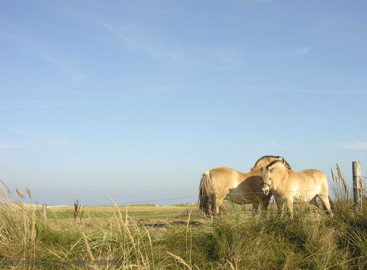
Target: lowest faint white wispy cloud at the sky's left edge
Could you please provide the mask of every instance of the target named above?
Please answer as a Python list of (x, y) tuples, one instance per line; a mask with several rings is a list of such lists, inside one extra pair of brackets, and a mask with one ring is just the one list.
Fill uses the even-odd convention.
[(1, 139), (0, 149), (30, 149), (30, 148), (60, 148), (70, 146), (66, 140), (44, 137), (35, 133), (22, 132), (12, 127), (7, 127), (10, 131), (10, 139)]

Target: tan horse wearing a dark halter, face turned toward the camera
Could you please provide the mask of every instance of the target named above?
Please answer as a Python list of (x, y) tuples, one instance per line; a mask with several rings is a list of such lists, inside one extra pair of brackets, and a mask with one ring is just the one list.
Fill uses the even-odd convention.
[[(289, 170), (283, 160), (270, 162), (265, 169), (261, 167), (261, 193), (267, 198), (272, 192), (278, 209), (284, 205), (293, 216), (294, 202), (308, 202), (317, 206), (316, 197), (323, 203), (326, 212), (332, 216), (329, 201), (327, 177), (319, 170), (307, 169), (300, 172)], [(283, 212), (282, 212), (283, 215)]]

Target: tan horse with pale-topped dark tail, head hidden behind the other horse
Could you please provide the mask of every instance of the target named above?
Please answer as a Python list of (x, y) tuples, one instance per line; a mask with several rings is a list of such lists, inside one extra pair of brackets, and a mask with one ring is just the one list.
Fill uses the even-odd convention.
[[(260, 168), (267, 166), (270, 162), (281, 160), (280, 156), (263, 156), (257, 160), (249, 173), (241, 173), (230, 168), (215, 168), (204, 172), (199, 186), (199, 208), (202, 212), (210, 214), (212, 193), (216, 196), (216, 209), (219, 212), (224, 199), (236, 204), (252, 204), (252, 213), (256, 213), (259, 203), (268, 209), (271, 194), (261, 195)], [(286, 162), (289, 170), (291, 166)]]

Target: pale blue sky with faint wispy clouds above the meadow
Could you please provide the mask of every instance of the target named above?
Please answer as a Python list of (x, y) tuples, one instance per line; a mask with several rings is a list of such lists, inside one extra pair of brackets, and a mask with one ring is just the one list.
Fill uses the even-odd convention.
[(367, 172), (365, 1), (1, 1), (0, 179), (39, 204), (197, 201), (263, 155)]

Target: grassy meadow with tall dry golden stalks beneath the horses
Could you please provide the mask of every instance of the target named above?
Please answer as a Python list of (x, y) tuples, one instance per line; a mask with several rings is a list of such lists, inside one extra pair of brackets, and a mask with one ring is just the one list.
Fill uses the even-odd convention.
[[(44, 222), (28, 189), (26, 200), (4, 185), (0, 269), (367, 269), (367, 201), (355, 213), (341, 174), (333, 184), (333, 217), (307, 205), (292, 219), (275, 207), (252, 216), (226, 202), (213, 223), (197, 204), (85, 206), (76, 217), (48, 207)], [(56, 261), (70, 264), (46, 264)]]

